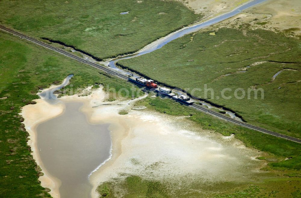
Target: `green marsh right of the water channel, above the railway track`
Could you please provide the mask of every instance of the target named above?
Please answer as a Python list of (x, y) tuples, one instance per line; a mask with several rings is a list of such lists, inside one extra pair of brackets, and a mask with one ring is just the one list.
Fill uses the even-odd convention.
[[(211, 32), (183, 36), (152, 53), (118, 63), (231, 109), (247, 122), (301, 138), (301, 41), (244, 27)], [(280, 70), (283, 72), (273, 79)], [(214, 94), (206, 92), (204, 85)], [(231, 99), (222, 97), (224, 88), (232, 90), (224, 92)], [(245, 91), (242, 99), (234, 97), (237, 88)], [(255, 88), (263, 89), (263, 99), (261, 91), (254, 99)], [(237, 96), (241, 95), (238, 91)]]

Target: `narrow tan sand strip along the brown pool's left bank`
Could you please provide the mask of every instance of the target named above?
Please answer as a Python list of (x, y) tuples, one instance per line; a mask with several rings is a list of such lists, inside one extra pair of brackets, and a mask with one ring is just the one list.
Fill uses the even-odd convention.
[[(52, 89), (58, 87), (59, 85), (51, 85), (50, 88), (44, 89), (44, 91), (48, 89)], [(84, 92), (88, 92), (91, 90), (91, 87), (88, 87)], [(95, 90), (91, 95), (78, 97), (79, 94), (75, 94), (72, 96), (63, 96), (58, 101), (75, 101), (75, 102), (83, 102), (87, 104), (92, 104), (94, 102), (94, 98), (98, 98), (98, 100), (103, 100), (106, 97), (106, 94), (102, 91), (102, 88)], [(47, 170), (45, 169), (43, 162), (39, 156), (39, 150), (37, 149), (36, 142), (36, 128), (37, 126), (45, 122), (49, 119), (53, 119), (64, 113), (65, 105), (62, 102), (58, 102), (57, 104), (49, 104), (46, 100), (40, 98), (34, 100), (36, 104), (26, 105), (22, 107), (20, 115), (23, 116), (26, 131), (29, 133), (29, 141), (27, 144), (31, 147), (33, 151), (33, 159), (35, 159), (36, 163), (41, 167), (43, 176), (39, 177), (39, 181), (41, 181), (41, 185), (43, 187), (49, 188), (51, 191), (49, 192), (52, 197), (60, 197), (59, 187), (61, 185), (61, 181), (58, 178), (53, 177)]]

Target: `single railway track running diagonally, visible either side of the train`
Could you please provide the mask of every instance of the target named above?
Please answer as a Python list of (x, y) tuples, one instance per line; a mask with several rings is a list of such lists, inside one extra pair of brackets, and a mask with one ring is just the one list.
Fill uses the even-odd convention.
[[(79, 62), (81, 62), (81, 63), (85, 63), (85, 64), (88, 64), (88, 65), (90, 65), (90, 66), (92, 66), (92, 67), (101, 69), (101, 70), (103, 70), (104, 72), (106, 72), (106, 73), (108, 73), (108, 74), (117, 76), (117, 77), (119, 77), (119, 78), (121, 78), (121, 79), (126, 79), (126, 80), (128, 80), (128, 77), (127, 77), (127, 76), (124, 76), (124, 75), (122, 75), (122, 74), (120, 74), (120, 73), (117, 73), (117, 72), (115, 72), (115, 71), (112, 71), (112, 70), (110, 70), (110, 69), (107, 68), (107, 67), (103, 67), (103, 66), (98, 65), (98, 64), (96, 64), (96, 63), (93, 63), (93, 62), (90, 62), (90, 61), (85, 60), (85, 59), (83, 59), (83, 58), (80, 58), (80, 57), (78, 57), (78, 56), (76, 56), (76, 55), (74, 55), (74, 54), (71, 54), (71, 53), (69, 53), (69, 52), (67, 52), (67, 51), (64, 51), (63, 49), (53, 47), (53, 46), (51, 46), (51, 45), (49, 45), (49, 44), (46, 44), (46, 43), (44, 43), (44, 42), (42, 42), (42, 41), (39, 41), (38, 39), (34, 39), (34, 38), (30, 37), (30, 36), (26, 36), (26, 35), (24, 35), (24, 34), (22, 34), (22, 33), (20, 33), (20, 32), (17, 32), (17, 31), (15, 31), (15, 30), (13, 30), (13, 29), (7, 28), (7, 27), (5, 27), (5, 26), (3, 26), (3, 25), (0, 25), (0, 29), (2, 29), (2, 30), (5, 31), (5, 32), (9, 32), (9, 33), (11, 33), (11, 34), (13, 34), (13, 35), (19, 36), (20, 38), (27, 39), (27, 40), (29, 40), (29, 41), (31, 41), (31, 42), (33, 42), (33, 43), (36, 43), (36, 44), (38, 44), (38, 45), (41, 45), (41, 46), (45, 47), (45, 48), (51, 49), (51, 50), (53, 50), (53, 51), (56, 51), (56, 52), (58, 52), (58, 53), (60, 53), (60, 54), (63, 54), (63, 55), (65, 55), (65, 56), (71, 57), (71, 58), (73, 58), (73, 59), (75, 59), (75, 60), (77, 60), (77, 61), (79, 61)], [(201, 107), (201, 106), (196, 105), (196, 104), (191, 104), (190, 106), (194, 107), (194, 108), (197, 109), (197, 110), (201, 110), (201, 111), (203, 111), (203, 112), (205, 112), (205, 113), (208, 113), (208, 114), (210, 114), (210, 115), (219, 117), (219, 118), (221, 118), (221, 119), (223, 119), (223, 120), (226, 120), (226, 121), (228, 121), (228, 122), (232, 122), (232, 123), (234, 123), (234, 124), (237, 124), (237, 125), (240, 125), (240, 126), (244, 126), (244, 127), (246, 127), (246, 128), (250, 128), (250, 129), (253, 129), (253, 130), (256, 130), (256, 131), (260, 131), (260, 132), (262, 132), (262, 133), (270, 134), (270, 135), (273, 135), (273, 136), (276, 136), (276, 137), (279, 137), (279, 138), (284, 138), (284, 139), (287, 139), (287, 140), (290, 140), (290, 141), (294, 141), (294, 142), (297, 142), (297, 143), (301, 143), (301, 140), (298, 139), (298, 138), (290, 137), (290, 136), (287, 136), (287, 135), (282, 135), (282, 134), (280, 134), (280, 133), (276, 133), (276, 132), (274, 132), (274, 131), (269, 131), (269, 130), (267, 130), (267, 129), (264, 129), (264, 128), (261, 128), (261, 127), (258, 127), (258, 126), (254, 126), (254, 125), (248, 124), (248, 123), (246, 123), (246, 122), (240, 122), (240, 121), (238, 121), (238, 120), (236, 120), (236, 119), (229, 118), (229, 117), (224, 116), (224, 115), (222, 115), (222, 114), (220, 114), (220, 113), (216, 113), (216, 112), (214, 112), (214, 111), (211, 111), (211, 110), (209, 110), (209, 109), (206, 109), (205, 107)]]

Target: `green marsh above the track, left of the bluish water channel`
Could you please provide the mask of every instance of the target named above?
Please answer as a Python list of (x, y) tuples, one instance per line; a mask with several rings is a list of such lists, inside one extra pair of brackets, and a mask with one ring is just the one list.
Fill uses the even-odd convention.
[[(124, 11), (129, 14), (119, 14)], [(0, 2), (1, 24), (99, 58), (137, 51), (198, 17), (170, 0)]]

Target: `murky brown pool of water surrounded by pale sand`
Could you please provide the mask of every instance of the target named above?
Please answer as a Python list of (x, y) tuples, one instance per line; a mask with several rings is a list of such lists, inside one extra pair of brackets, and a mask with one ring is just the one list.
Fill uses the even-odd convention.
[(108, 125), (88, 123), (81, 103), (37, 127), (37, 146), (47, 171), (61, 180), (62, 198), (91, 197), (88, 176), (111, 155)]

